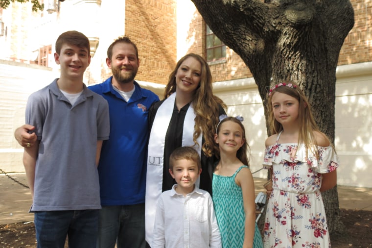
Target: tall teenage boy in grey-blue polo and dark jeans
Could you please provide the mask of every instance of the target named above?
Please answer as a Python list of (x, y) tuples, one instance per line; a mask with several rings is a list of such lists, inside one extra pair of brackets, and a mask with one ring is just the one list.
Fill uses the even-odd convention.
[(88, 38), (67, 31), (55, 48), (60, 78), (33, 93), (26, 106), (26, 123), (35, 126), (38, 139), (23, 152), (31, 212), (38, 248), (62, 248), (67, 235), (70, 248), (92, 248), (101, 208), (97, 165), (110, 133), (108, 103), (83, 83), (91, 61)]

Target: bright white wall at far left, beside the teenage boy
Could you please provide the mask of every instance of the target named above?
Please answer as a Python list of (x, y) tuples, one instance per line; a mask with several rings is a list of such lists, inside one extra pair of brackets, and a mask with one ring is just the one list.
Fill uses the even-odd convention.
[(0, 60), (0, 169), (24, 172), (23, 148), (14, 139), (15, 128), (24, 124), (28, 96), (58, 76), (50, 68)]

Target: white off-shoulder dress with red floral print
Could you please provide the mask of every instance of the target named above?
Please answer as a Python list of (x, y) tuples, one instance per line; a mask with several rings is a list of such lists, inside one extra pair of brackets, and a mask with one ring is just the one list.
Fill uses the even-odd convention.
[(273, 192), (266, 209), (265, 248), (330, 248), (326, 211), (319, 191), (322, 174), (336, 170), (334, 149), (318, 147), (319, 159), (306, 157), (304, 144), (278, 144), (265, 150), (263, 165), (273, 167)]

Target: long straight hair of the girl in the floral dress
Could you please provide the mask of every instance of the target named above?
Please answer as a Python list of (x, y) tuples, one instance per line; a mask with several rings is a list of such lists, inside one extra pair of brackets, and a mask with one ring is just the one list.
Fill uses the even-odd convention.
[[(306, 96), (303, 94), (300, 87), (291, 82), (285, 81), (283, 82), (285, 85), (281, 85), (279, 87), (272, 88), (272, 92), (270, 93), (267, 110), (269, 113), (269, 120), (270, 120), (270, 133), (271, 134), (278, 134), (280, 131), (283, 130), (283, 126), (275, 119), (274, 112), (273, 112), (273, 105), (272, 105), (272, 98), (276, 92), (286, 94), (291, 96), (299, 101), (299, 138), (298, 138), (298, 145), (303, 143), (306, 147), (306, 150), (310, 150), (317, 158), (319, 158), (318, 152), (318, 144), (315, 139), (314, 132), (319, 131), (318, 125), (315, 123), (313, 115), (311, 113), (311, 106), (308, 102)], [(288, 84), (292, 84), (288, 86)], [(306, 152), (307, 155), (307, 152)]]

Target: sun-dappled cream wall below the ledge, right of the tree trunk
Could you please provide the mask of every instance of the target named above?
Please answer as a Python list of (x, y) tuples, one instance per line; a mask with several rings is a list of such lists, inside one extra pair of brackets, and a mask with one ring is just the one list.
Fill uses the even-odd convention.
[(360, 78), (336, 84), (335, 147), (341, 161), (338, 183), (372, 187), (372, 84)]

